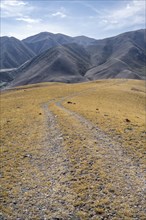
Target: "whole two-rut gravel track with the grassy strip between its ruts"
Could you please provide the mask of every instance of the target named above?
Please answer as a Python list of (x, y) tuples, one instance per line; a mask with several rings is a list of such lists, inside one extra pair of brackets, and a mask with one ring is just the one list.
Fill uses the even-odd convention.
[[(112, 140), (90, 121), (66, 109), (62, 105), (63, 101), (65, 98), (55, 102), (55, 105), (65, 113), (65, 123), (70, 117), (72, 117), (72, 121), (75, 121), (75, 125), (68, 124), (68, 129), (71, 129), (69, 133), (72, 133), (72, 137), (67, 136), (67, 134), (63, 135), (63, 133), (61, 135), (60, 131), (57, 131), (55, 116), (45, 107), (52, 135), (49, 135), (52, 145), (49, 150), (52, 179), (50, 202), (57, 205), (57, 209), (50, 217), (78, 219), (76, 213), (82, 211), (83, 214), (87, 213), (88, 217), (85, 215), (87, 219), (114, 219), (118, 216), (118, 209), (123, 213), (127, 209), (127, 212), (130, 212), (129, 218), (140, 219), (144, 207), (145, 179), (143, 169), (129, 157), (118, 140)], [(80, 127), (79, 133), (77, 126)], [(67, 140), (65, 147), (63, 145), (64, 137)], [(80, 145), (77, 150), (72, 151), (70, 146), (74, 144), (73, 137), (80, 140)], [(75, 165), (72, 164), (70, 157), (74, 158)], [(96, 161), (100, 161), (100, 171), (98, 167), (92, 169)], [(83, 164), (88, 164), (88, 167), (85, 166), (82, 169)], [(74, 166), (78, 167), (77, 165), (80, 167), (81, 172), (79, 173), (73, 171)], [(104, 173), (103, 176), (100, 172)], [(82, 185), (86, 181), (89, 183), (87, 189), (83, 190), (86, 198), (85, 201), (84, 199), (82, 201), (84, 205), (81, 203), (74, 207), (74, 204), (81, 200), (74, 190), (74, 183)], [(95, 189), (96, 185), (100, 187)], [(98, 213), (98, 210), (95, 212), (90, 207), (91, 203), (94, 203), (91, 201), (93, 197), (98, 201), (106, 198), (111, 204), (102, 204), (102, 213), (100, 211)], [(87, 200), (89, 200), (89, 204)]]

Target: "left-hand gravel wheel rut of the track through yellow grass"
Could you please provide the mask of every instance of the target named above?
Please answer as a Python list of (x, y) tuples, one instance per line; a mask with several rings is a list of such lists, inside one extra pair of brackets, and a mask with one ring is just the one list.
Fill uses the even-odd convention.
[(73, 212), (74, 208), (72, 205), (74, 193), (65, 182), (65, 175), (69, 172), (70, 164), (63, 148), (63, 138), (56, 124), (55, 116), (49, 111), (47, 104), (44, 105), (44, 110), (49, 126), (48, 140), (46, 142), (50, 146), (46, 150), (46, 159), (49, 158), (48, 170), (44, 167), (50, 181), (48, 199), (46, 201), (48, 204), (45, 208), (50, 210), (50, 217), (47, 216), (47, 218), (57, 219), (60, 216), (65, 218)]

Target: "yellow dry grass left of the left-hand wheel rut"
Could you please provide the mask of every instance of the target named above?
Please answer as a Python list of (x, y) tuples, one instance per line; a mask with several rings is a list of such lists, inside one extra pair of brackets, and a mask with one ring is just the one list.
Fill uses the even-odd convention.
[(24, 196), (24, 203), (27, 203), (35, 192), (34, 176), (43, 178), (42, 172), (30, 163), (29, 158), (29, 155), (34, 158), (41, 156), (40, 143), (44, 139), (46, 120), (42, 104), (72, 92), (76, 92), (72, 86), (47, 83), (28, 85), (1, 94), (1, 210), (8, 219), (14, 219), (10, 216), (15, 213), (13, 203), (22, 194), (22, 184), (31, 189), (31, 193), (27, 195), (26, 192)]

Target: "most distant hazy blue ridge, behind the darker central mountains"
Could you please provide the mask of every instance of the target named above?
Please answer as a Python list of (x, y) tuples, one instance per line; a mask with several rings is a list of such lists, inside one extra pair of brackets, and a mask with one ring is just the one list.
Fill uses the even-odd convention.
[(80, 45), (88, 46), (95, 42), (95, 39), (85, 36), (69, 37), (64, 34), (52, 34), (49, 32), (42, 32), (26, 38), (22, 42), (26, 46), (28, 46), (35, 54), (38, 55), (46, 51), (47, 49), (64, 44), (77, 43)]

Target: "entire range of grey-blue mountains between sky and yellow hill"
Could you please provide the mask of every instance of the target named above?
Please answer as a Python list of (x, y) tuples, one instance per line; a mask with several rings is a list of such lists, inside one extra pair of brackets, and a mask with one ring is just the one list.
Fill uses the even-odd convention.
[[(84, 82), (107, 78), (144, 79), (145, 30), (95, 40), (42, 32), (22, 41), (0, 39), (0, 82)], [(11, 68), (10, 70), (5, 70)], [(12, 70), (12, 68), (15, 68)], [(3, 70), (4, 69), (4, 70)]]

